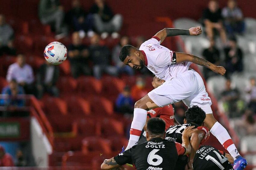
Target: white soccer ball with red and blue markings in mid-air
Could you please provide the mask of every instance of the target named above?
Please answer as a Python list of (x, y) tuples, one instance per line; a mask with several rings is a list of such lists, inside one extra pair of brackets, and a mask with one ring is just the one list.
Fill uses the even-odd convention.
[(67, 59), (67, 48), (57, 41), (49, 43), (45, 47), (44, 57), (51, 64), (61, 64)]

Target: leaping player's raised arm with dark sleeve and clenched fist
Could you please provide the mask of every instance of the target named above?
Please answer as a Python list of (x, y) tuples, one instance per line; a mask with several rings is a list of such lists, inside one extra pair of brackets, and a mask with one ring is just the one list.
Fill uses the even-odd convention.
[(200, 35), (202, 33), (201, 27), (192, 27), (189, 29), (178, 29), (178, 28), (164, 28), (155, 34), (156, 37), (160, 38), (161, 43), (166, 37), (176, 35)]

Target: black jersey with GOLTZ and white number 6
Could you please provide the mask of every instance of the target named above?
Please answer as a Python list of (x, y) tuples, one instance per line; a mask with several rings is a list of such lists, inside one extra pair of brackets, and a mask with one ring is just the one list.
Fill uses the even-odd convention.
[(114, 157), (119, 165), (133, 164), (137, 170), (174, 170), (178, 155), (186, 149), (177, 142), (153, 138)]

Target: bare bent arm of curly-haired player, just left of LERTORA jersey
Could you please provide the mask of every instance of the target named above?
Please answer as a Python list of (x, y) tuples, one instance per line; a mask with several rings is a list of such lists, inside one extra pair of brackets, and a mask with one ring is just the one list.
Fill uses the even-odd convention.
[(192, 136), (190, 138), (190, 144), (191, 144), (191, 152), (189, 154), (189, 162), (192, 163), (195, 153), (199, 148), (199, 145), (204, 138), (204, 131), (202, 130), (196, 130), (192, 133)]

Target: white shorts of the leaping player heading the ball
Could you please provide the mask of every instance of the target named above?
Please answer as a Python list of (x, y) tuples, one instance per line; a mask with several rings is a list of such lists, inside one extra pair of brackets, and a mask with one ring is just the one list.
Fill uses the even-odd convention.
[(197, 105), (206, 114), (212, 113), (211, 98), (206, 92), (203, 79), (195, 70), (177, 74), (176, 78), (150, 91), (148, 96), (159, 107), (182, 100), (188, 107)]

